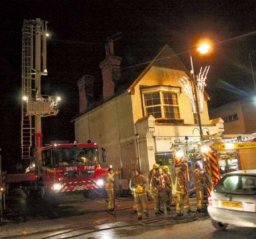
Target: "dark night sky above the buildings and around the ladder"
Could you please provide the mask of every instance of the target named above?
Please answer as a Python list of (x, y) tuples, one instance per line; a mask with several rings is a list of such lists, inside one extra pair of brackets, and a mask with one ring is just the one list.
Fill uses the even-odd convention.
[[(210, 64), (209, 107), (253, 93), (248, 53), (255, 51), (254, 1), (1, 1), (1, 145), (5, 165), (20, 159), (20, 86), (23, 19), (48, 20), (48, 76), (43, 93), (61, 95), (58, 116), (43, 120), (44, 142), (74, 140), (71, 119), (78, 112), (76, 82), (83, 74), (96, 77), (95, 98), (101, 94), (99, 62), (106, 37), (122, 32), (115, 52), (126, 65), (168, 44), (176, 53), (195, 47), (197, 39), (215, 43), (207, 57), (195, 58), (196, 70)], [(181, 60), (189, 68), (188, 54)], [(256, 52), (251, 53), (253, 65)], [(228, 85), (232, 84), (234, 87)], [(9, 162), (9, 165), (7, 165)]]

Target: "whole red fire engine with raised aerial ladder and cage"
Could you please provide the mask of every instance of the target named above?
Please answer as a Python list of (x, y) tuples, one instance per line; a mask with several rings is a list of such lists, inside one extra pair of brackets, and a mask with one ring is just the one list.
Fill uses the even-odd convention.
[[(48, 74), (47, 24), (40, 18), (23, 21), (21, 148), (23, 165), (29, 166), (26, 173), (7, 174), (5, 178), (7, 193), (22, 187), (27, 194), (39, 191), (44, 199), (103, 188), (102, 177), (107, 171), (100, 166), (98, 145), (90, 140), (87, 144), (42, 147), (42, 118), (56, 116), (60, 104), (60, 97), (41, 92), (41, 77)], [(104, 161), (105, 150), (102, 156)]]

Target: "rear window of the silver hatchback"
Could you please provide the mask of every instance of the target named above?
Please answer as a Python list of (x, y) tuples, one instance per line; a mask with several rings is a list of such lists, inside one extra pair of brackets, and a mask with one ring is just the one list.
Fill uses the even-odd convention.
[(256, 177), (253, 175), (225, 175), (214, 188), (226, 194), (256, 194)]

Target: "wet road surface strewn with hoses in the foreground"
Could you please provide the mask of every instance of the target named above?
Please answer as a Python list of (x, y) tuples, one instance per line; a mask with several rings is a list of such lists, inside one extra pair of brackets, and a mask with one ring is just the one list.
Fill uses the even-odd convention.
[[(36, 200), (30, 203), (25, 215), (9, 214), (1, 226), (0, 238), (256, 238), (254, 228), (228, 226), (227, 230), (217, 231), (210, 224), (208, 216), (189, 223), (159, 227), (158, 222), (142, 225), (133, 213), (133, 202), (125, 198), (117, 199), (117, 212), (105, 211), (105, 199), (89, 200), (82, 195), (63, 198), (58, 207), (49, 206)], [(191, 200), (195, 209), (195, 200)], [(155, 219), (152, 203), (149, 204), (150, 218)], [(39, 208), (39, 209), (38, 209)], [(172, 208), (170, 217), (175, 215)], [(148, 220), (148, 219), (143, 219)], [(166, 219), (163, 223), (171, 222)]]

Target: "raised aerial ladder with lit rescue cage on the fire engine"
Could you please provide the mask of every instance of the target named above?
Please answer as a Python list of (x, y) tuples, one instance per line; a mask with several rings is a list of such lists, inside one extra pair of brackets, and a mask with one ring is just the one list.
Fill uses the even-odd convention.
[(47, 76), (47, 24), (40, 18), (23, 20), (22, 28), (22, 160), (31, 162), (35, 149), (39, 167), (42, 161), (41, 121), (43, 117), (57, 115), (60, 101), (59, 97), (41, 92), (41, 76)]

